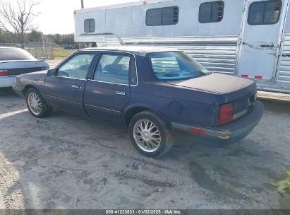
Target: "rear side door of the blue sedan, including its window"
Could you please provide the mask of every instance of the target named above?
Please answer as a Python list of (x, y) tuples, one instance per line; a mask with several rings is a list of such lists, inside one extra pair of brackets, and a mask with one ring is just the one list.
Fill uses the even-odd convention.
[(132, 62), (134, 59), (131, 54), (99, 54), (92, 76), (85, 86), (84, 104), (90, 117), (121, 122), (121, 111), (130, 101), (130, 70), (135, 68), (131, 66)]

